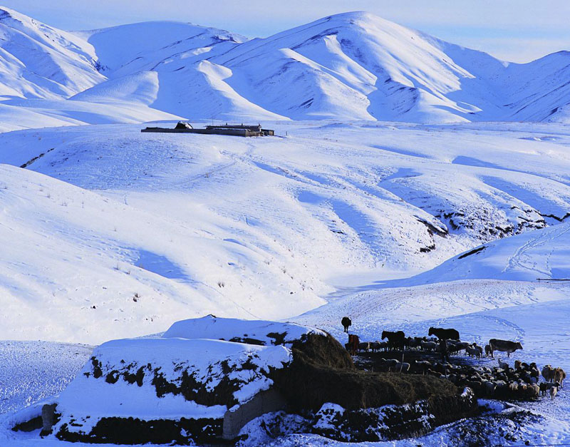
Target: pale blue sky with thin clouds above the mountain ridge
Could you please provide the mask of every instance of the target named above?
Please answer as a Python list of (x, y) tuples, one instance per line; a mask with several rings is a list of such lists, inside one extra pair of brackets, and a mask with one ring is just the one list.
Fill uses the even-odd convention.
[(248, 37), (330, 14), (370, 11), (508, 61), (570, 50), (568, 0), (4, 0), (3, 5), (66, 30), (175, 20)]

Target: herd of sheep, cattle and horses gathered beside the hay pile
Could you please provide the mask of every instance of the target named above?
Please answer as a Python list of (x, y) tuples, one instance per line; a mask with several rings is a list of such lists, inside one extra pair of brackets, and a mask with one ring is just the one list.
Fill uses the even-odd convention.
[[(349, 320), (350, 321), (350, 320)], [(343, 326), (346, 320), (343, 320)], [(348, 327), (346, 327), (348, 332)], [(527, 364), (515, 360), (509, 365), (497, 359), (496, 366), (473, 364), (466, 361), (450, 363), (450, 355), (462, 354), (480, 359), (482, 356), (494, 358), (495, 351), (507, 353), (522, 349), (517, 341), (490, 339), (486, 346), (461, 341), (455, 329), (430, 327), (427, 336), (408, 336), (404, 332), (382, 333), (382, 341), (360, 341), (356, 334), (348, 334), (346, 349), (352, 355), (357, 353), (377, 353), (373, 355), (375, 371), (398, 373), (429, 374), (447, 379), (457, 386), (469, 386), (479, 397), (494, 399), (528, 400), (538, 399), (549, 393), (554, 399), (564, 386), (566, 372), (550, 365), (539, 369), (537, 364)], [(399, 359), (393, 356), (400, 356)], [(367, 354), (371, 356), (371, 354)], [(405, 361), (408, 356), (409, 361)], [(540, 380), (540, 377), (544, 379)]]

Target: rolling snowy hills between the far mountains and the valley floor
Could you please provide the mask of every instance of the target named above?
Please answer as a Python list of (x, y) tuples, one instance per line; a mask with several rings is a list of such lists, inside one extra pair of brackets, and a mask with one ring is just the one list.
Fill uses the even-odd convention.
[(276, 131), (287, 135), (138, 125), (1, 134), (0, 237), (10, 251), (0, 284), (12, 307), (0, 335), (98, 342), (164, 330), (180, 312), (286, 318), (351, 284), (567, 225), (563, 125), (281, 122)]

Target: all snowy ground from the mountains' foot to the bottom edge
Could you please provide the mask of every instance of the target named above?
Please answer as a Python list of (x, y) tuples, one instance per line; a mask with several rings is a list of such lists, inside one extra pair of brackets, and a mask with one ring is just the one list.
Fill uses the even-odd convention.
[[(455, 327), (570, 371), (570, 283), (537, 281), (570, 277), (566, 126), (264, 125), (278, 136), (0, 134), (0, 337), (99, 344), (216, 314), (289, 319), (344, 342), (348, 315), (361, 339)], [(2, 353), (0, 444), (48, 445), (7, 431), (10, 415), (61, 391), (90, 348), (10, 341)], [(523, 406), (546, 419), (519, 439), (570, 437), (567, 391)]]

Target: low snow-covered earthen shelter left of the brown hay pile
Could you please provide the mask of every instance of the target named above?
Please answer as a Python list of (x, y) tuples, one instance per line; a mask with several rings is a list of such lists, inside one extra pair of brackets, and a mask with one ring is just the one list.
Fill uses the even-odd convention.
[[(241, 423), (239, 431), (249, 413), (252, 418), (275, 409), (259, 402), (250, 404), (246, 414), (239, 413), (254, 398), (270, 399), (269, 394), (259, 396), (274, 386), (276, 370), (293, 359), (283, 344), (217, 339), (219, 334), (241, 338), (246, 328), (254, 330), (252, 336), (269, 328), (286, 336), (293, 329), (285, 337), (289, 343), (314, 332), (295, 324), (205, 317), (174, 324), (158, 338), (108, 341), (93, 351), (55, 400), (58, 421), (53, 433), (67, 441), (117, 443), (186, 443), (232, 436), (235, 428), (227, 425)], [(274, 399), (276, 405), (282, 400)], [(232, 418), (234, 414), (238, 416)]]

